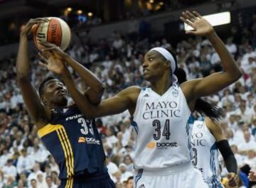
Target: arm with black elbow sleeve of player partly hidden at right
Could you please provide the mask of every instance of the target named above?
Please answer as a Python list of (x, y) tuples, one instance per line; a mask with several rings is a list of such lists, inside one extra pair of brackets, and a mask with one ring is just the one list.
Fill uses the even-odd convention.
[(225, 138), (222, 129), (220, 126), (206, 118), (206, 126), (210, 130), (210, 133), (213, 134), (218, 150), (220, 150), (221, 155), (223, 156), (225, 166), (228, 170), (228, 186), (235, 187), (238, 186), (239, 177), (238, 172), (238, 163), (235, 160), (235, 155), (233, 154), (227, 138)]

